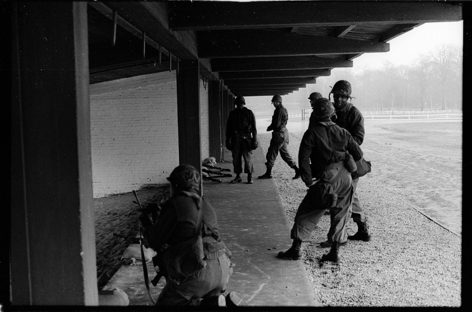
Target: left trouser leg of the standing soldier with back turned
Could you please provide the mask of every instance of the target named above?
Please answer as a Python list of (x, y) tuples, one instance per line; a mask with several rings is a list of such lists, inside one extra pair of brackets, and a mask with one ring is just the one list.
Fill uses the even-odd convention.
[(295, 214), (295, 223), (290, 231), (290, 238), (292, 240), (309, 241), (310, 235), (326, 210), (313, 209), (312, 200), (307, 192)]

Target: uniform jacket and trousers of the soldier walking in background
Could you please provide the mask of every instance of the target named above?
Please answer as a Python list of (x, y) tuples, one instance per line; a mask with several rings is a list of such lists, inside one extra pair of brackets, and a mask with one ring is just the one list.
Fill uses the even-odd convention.
[(265, 163), (267, 168), (274, 167), (275, 159), (277, 158), (278, 152), (280, 151), (280, 156), (287, 163), (290, 168), (296, 166), (295, 161), (293, 161), (292, 156), (288, 152), (288, 130), (285, 127), (287, 125), (288, 113), (287, 109), (280, 104), (274, 110), (272, 115), (272, 122), (267, 128), (267, 131), (272, 130), (272, 139), (270, 140), (269, 148), (267, 149)]

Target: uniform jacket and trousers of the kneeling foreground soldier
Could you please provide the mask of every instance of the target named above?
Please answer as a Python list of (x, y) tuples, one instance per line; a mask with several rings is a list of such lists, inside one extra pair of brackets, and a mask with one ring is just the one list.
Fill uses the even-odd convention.
[(211, 205), (195, 192), (181, 191), (167, 200), (154, 225), (144, 226), (146, 244), (156, 251), (189, 240), (195, 234), (198, 207), (202, 209), (203, 253), (206, 265), (183, 280), (168, 279), (157, 305), (200, 305), (204, 298), (219, 295), (233, 272), (231, 253), (219, 239), (217, 216)]

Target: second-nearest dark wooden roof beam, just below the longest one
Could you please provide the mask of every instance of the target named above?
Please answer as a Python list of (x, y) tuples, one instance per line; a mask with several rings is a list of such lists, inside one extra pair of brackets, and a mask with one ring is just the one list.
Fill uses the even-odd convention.
[(198, 33), (198, 56), (202, 58), (328, 55), (389, 50), (389, 44), (385, 42), (258, 29)]

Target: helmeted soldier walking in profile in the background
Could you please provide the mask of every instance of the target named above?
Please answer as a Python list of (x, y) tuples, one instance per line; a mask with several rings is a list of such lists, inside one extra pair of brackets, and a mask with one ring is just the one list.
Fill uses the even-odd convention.
[(267, 127), (267, 131), (272, 130), (272, 139), (270, 140), (269, 148), (266, 154), (266, 172), (262, 176), (258, 176), (258, 179), (271, 179), (272, 178), (272, 167), (274, 167), (275, 159), (277, 158), (278, 152), (280, 156), (287, 163), (290, 168), (295, 170), (295, 176), (292, 179), (298, 179), (300, 172), (296, 165), (296, 162), (292, 159), (292, 156), (288, 152), (288, 130), (285, 127), (287, 125), (288, 113), (287, 109), (282, 105), (282, 97), (275, 95), (272, 97), (272, 104), (275, 106), (274, 114), (272, 115), (272, 123)]

